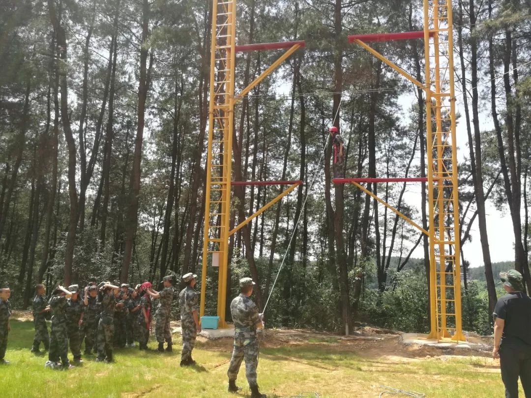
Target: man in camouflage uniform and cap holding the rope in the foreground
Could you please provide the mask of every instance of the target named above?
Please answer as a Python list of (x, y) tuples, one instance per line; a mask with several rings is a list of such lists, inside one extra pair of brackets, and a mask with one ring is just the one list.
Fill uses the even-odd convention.
[(230, 313), (234, 322), (234, 349), (227, 371), (229, 378), (229, 392), (236, 393), (239, 367), (245, 359), (245, 376), (251, 388), (251, 398), (266, 398), (261, 394), (256, 382), (256, 367), (258, 367), (258, 338), (256, 328), (263, 327), (263, 315), (258, 313), (258, 306), (250, 296), (253, 293), (254, 282), (251, 278), (239, 281), (241, 293), (230, 303)]

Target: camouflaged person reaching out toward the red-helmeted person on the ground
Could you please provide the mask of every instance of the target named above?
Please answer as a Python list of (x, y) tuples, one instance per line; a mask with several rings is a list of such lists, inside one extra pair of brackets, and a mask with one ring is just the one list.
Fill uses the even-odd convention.
[(172, 333), (169, 330), (169, 317), (172, 310), (173, 301), (173, 276), (168, 275), (162, 278), (160, 282), (164, 284), (164, 289), (160, 292), (153, 290), (152, 288), (147, 290), (151, 298), (160, 299), (159, 306), (157, 307), (157, 320), (155, 323), (155, 334), (157, 341), (159, 342), (158, 351), (164, 352), (164, 341), (168, 343), (166, 351), (172, 352)]

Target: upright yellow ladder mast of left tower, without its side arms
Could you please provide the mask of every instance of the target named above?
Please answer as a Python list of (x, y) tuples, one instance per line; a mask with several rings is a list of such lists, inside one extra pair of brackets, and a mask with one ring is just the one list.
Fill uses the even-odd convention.
[[(210, 102), (208, 120), (207, 180), (202, 286), (206, 283), (207, 263), (219, 267), (218, 315), (225, 326), (225, 294), (232, 174), (232, 131), (234, 120), (235, 11), (234, 0), (214, 0), (210, 56)], [(201, 289), (200, 316), (204, 315), (205, 289)]]

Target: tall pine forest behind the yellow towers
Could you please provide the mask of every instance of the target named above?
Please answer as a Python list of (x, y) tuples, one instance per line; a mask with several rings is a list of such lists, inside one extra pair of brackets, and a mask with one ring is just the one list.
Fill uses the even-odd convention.
[[(138, 283), (201, 271), (211, 7), (0, 4), (0, 282), (15, 306), (29, 306), (38, 282), (49, 292), (90, 277)], [(455, 0), (453, 8), (463, 323), (484, 334), (500, 270), (516, 267), (531, 290), (531, 2)], [(238, 44), (307, 45), (237, 107), (234, 178), (304, 184), (230, 240), (227, 294), (252, 274), (263, 307), (287, 251), (269, 326), (340, 331), (370, 322), (426, 332), (426, 237), (353, 188), (338, 200), (330, 146), (319, 163), (339, 109), (347, 176), (425, 176), (422, 90), (346, 42), (351, 33), (422, 30), (422, 1), (244, 0), (237, 10)], [(375, 47), (423, 81), (421, 41)], [(237, 88), (278, 56), (238, 55)], [(425, 183), (367, 188), (427, 229)], [(282, 189), (235, 192), (231, 224)], [(502, 219), (513, 247), (489, 236), (487, 224)], [(507, 262), (493, 264), (492, 251)], [(216, 280), (209, 267), (207, 314)]]

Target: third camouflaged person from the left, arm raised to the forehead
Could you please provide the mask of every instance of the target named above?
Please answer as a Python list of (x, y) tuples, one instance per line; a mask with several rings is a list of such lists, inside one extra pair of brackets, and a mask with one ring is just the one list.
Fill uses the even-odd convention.
[[(45, 366), (52, 369), (72, 368), (68, 361), (68, 328), (66, 325), (66, 299), (71, 296), (70, 291), (59, 286), (54, 290), (49, 301), (52, 312), (52, 328), (50, 329), (50, 351)], [(62, 366), (59, 361), (62, 362)]]

